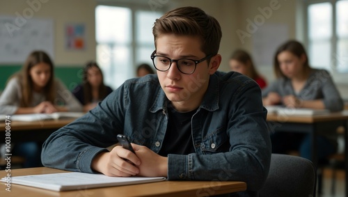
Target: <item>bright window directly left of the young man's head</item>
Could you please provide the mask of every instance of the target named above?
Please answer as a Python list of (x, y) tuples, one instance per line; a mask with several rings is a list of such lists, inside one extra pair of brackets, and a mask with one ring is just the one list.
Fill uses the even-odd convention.
[(152, 26), (162, 14), (133, 7), (95, 8), (97, 63), (106, 84), (118, 88), (125, 80), (135, 77), (136, 65), (152, 65), (150, 55), (155, 49)]

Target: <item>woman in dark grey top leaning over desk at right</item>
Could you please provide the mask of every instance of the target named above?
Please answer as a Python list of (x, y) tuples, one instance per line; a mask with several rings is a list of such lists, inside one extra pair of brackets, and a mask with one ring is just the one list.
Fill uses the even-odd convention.
[[(265, 106), (284, 105), (289, 108), (343, 109), (342, 98), (329, 72), (310, 68), (303, 45), (290, 40), (281, 45), (274, 56), (277, 80), (262, 90)], [(276, 132), (271, 134), (272, 151), (287, 153), (299, 150), (301, 157), (311, 158), (310, 135)], [(335, 141), (318, 136), (319, 161), (335, 152)]]

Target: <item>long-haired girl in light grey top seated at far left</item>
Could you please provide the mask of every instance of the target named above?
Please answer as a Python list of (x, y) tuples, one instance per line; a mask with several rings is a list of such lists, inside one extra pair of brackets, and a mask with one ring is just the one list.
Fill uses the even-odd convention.
[[(82, 106), (54, 79), (54, 65), (45, 52), (32, 52), (22, 70), (10, 77), (0, 97), (0, 114), (54, 113), (82, 111)], [(41, 145), (36, 142), (17, 143), (13, 155), (25, 158), (24, 167), (42, 166)]]

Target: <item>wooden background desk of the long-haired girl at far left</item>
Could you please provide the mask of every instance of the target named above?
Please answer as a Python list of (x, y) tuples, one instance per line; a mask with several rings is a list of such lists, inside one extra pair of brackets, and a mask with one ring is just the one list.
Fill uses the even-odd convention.
[[(11, 121), (11, 143), (23, 141), (45, 141), (50, 134), (64, 125), (71, 123), (73, 120), (75, 120), (75, 118), (62, 120), (39, 120), (33, 122)], [(5, 136), (5, 128), (5, 121), (0, 122), (0, 136)]]

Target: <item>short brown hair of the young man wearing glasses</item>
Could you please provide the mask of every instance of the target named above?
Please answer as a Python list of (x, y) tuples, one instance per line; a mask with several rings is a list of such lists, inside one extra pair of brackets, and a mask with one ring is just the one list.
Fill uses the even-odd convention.
[(156, 19), (152, 28), (155, 38), (164, 33), (174, 33), (179, 36), (198, 36), (202, 40), (201, 50), (205, 55), (215, 55), (219, 52), (221, 41), (221, 26), (212, 16), (196, 7), (176, 8)]

